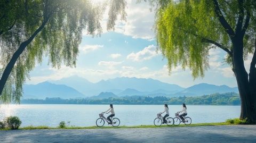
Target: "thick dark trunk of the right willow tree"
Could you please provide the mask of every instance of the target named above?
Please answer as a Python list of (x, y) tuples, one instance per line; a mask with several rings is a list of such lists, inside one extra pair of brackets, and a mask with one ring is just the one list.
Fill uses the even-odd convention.
[(239, 95), (241, 98), (240, 119), (246, 119), (249, 123), (256, 122), (256, 99), (255, 99), (255, 66), (254, 71), (250, 70), (249, 76), (244, 67), (243, 61), (243, 39), (236, 38), (233, 42), (233, 71), (236, 76)]

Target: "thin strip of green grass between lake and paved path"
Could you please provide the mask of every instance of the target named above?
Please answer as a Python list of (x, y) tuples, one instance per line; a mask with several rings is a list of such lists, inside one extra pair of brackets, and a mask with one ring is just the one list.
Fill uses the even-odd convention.
[[(161, 125), (160, 127), (156, 127), (155, 125), (135, 125), (135, 126), (119, 126), (119, 127), (111, 127), (110, 125), (108, 126), (103, 126), (103, 127), (66, 127), (66, 128), (54, 128), (54, 127), (47, 127), (47, 126), (28, 126), (28, 127), (23, 127), (20, 128), (20, 130), (34, 130), (34, 129), (127, 129), (127, 128), (178, 128), (178, 127), (199, 127), (199, 126), (210, 126), (210, 125), (229, 125), (230, 123), (227, 122), (222, 122), (222, 123), (198, 123), (198, 124), (190, 124), (190, 125), (185, 125), (185, 124), (180, 124), (178, 126), (172, 125), (172, 126), (167, 126), (167, 125)], [(1, 129), (0, 129), (1, 130)], [(7, 130), (7, 129), (4, 129)]]

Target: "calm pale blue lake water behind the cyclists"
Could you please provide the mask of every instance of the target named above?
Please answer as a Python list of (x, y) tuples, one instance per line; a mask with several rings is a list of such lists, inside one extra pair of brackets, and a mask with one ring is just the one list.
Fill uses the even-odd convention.
[[(28, 125), (47, 125), (57, 127), (60, 121), (70, 121), (70, 125), (79, 127), (93, 126), (99, 113), (106, 111), (109, 105), (1, 105), (0, 120), (17, 115), (22, 127)], [(181, 105), (169, 105), (170, 116), (180, 111)], [(204, 106), (187, 105), (188, 116), (192, 123), (223, 122), (238, 117), (240, 106)], [(156, 114), (164, 111), (163, 105), (114, 105), (120, 125), (151, 125)], [(105, 114), (107, 116), (107, 114)], [(105, 124), (106, 125), (106, 124)]]

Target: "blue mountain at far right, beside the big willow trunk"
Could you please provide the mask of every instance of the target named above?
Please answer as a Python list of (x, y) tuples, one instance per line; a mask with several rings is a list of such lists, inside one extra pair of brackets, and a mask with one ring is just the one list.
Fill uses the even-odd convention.
[(226, 85), (222, 86), (215, 86), (215, 85), (210, 85), (207, 83), (200, 83), (198, 85), (194, 85), (191, 87), (188, 87), (180, 92), (177, 92), (174, 95), (177, 96), (201, 96), (201, 95), (208, 95), (208, 94), (215, 94), (215, 93), (226, 93), (226, 92), (237, 92), (238, 93), (238, 88), (234, 87), (228, 87)]

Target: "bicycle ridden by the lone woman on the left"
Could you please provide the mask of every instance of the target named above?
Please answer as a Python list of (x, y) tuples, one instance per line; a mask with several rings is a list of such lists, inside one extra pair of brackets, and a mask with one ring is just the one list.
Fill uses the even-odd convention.
[[(98, 127), (102, 127), (105, 124), (105, 121), (110, 124), (110, 121), (104, 116), (105, 112), (102, 112), (101, 114), (99, 114), (99, 118), (96, 120), (96, 125)], [(117, 117), (111, 117), (110, 120), (112, 121), (111, 125), (113, 127), (118, 127), (118, 125), (120, 124), (120, 120)]]

